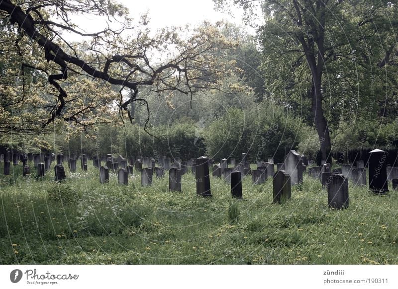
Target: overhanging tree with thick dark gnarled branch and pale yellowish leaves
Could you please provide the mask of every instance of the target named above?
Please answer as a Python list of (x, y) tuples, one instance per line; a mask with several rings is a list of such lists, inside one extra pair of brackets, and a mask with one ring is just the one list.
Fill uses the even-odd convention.
[[(86, 33), (73, 14), (101, 16), (107, 27)], [(140, 88), (192, 97), (216, 89), (228, 71), (213, 54), (232, 45), (217, 26), (204, 23), (188, 39), (182, 30), (166, 28), (151, 37), (145, 16), (133, 24), (127, 9), (112, 0), (2, 0), (0, 18), (2, 133), (37, 134), (57, 120), (86, 128), (106, 121), (101, 117), (115, 103), (132, 121), (132, 103), (149, 112)], [(85, 41), (68, 41), (77, 37)]]

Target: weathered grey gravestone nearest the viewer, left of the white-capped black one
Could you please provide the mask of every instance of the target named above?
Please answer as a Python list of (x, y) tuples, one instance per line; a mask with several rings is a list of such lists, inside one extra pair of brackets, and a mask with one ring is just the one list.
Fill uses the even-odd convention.
[(327, 203), (334, 209), (348, 208), (348, 179), (343, 175), (332, 175), (327, 186)]

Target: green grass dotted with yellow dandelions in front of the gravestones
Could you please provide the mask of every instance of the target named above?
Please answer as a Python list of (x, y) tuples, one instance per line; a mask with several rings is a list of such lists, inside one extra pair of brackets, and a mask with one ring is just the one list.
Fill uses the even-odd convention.
[(254, 186), (250, 176), (240, 201), (212, 177), (213, 197), (196, 196), (190, 173), (181, 193), (167, 191), (167, 174), (146, 188), (136, 172), (128, 186), (114, 174), (101, 185), (90, 165), (67, 177), (54, 182), (52, 167), (23, 178), (20, 166), (3, 176), (1, 165), (1, 264), (398, 264), (392, 190), (375, 196), (350, 184), (340, 211), (307, 175), (284, 205), (272, 204), (270, 179)]

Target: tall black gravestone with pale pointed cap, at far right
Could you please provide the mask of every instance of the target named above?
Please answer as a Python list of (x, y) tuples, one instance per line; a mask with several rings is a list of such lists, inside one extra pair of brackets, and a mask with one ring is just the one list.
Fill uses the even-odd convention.
[(388, 153), (376, 148), (369, 154), (369, 189), (376, 194), (385, 194), (389, 191), (386, 171)]

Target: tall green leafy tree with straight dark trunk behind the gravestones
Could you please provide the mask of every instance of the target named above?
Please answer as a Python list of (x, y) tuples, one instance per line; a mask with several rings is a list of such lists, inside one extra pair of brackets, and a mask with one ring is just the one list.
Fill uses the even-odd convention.
[[(215, 2), (220, 6), (226, 0)], [(360, 105), (366, 107), (375, 92), (372, 95), (364, 87), (369, 87), (371, 77), (376, 78), (375, 87), (380, 87), (381, 68), (391, 65), (391, 56), (396, 54), (397, 5), (388, 0), (233, 2), (246, 11), (253, 9), (255, 2), (261, 3), (265, 24), (259, 28), (258, 38), (264, 54), (261, 69), (266, 89), (287, 107), (301, 106), (304, 118), (316, 127), (321, 157), (330, 157), (328, 120), (336, 122), (338, 113), (347, 110), (352, 120)], [(352, 69), (352, 73), (342, 73), (341, 67)], [(394, 75), (388, 83), (395, 81)], [(348, 89), (340, 98), (336, 92), (341, 93), (342, 85)], [(325, 105), (329, 105), (328, 116)]]

